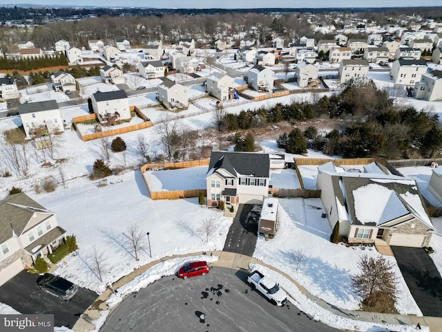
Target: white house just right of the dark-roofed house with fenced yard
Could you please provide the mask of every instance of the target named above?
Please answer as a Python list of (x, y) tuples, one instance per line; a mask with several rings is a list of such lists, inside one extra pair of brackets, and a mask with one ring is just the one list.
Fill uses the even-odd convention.
[(189, 107), (186, 88), (169, 78), (164, 78), (162, 84), (158, 86), (158, 101), (166, 109), (187, 109)]

